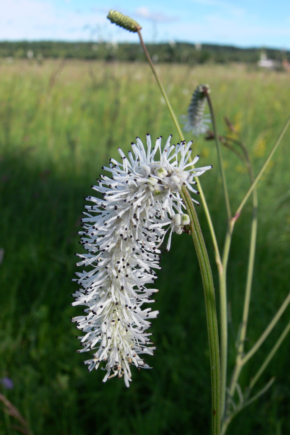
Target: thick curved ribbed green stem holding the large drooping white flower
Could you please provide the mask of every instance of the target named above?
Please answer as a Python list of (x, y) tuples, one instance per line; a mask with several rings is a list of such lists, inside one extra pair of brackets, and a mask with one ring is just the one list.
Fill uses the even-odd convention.
[(219, 363), (219, 335), (216, 317), (216, 299), (212, 281), (212, 271), (206, 245), (197, 218), (192, 199), (185, 186), (182, 186), (181, 197), (190, 218), (191, 234), (196, 248), (199, 267), (202, 274), (202, 284), (206, 304), (206, 322), (209, 335), (209, 357), (212, 381), (212, 434), (220, 434), (220, 363)]

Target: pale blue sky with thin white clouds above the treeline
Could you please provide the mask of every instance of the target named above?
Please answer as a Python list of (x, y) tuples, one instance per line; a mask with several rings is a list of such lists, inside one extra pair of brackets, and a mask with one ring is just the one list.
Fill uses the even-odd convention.
[(290, 0), (2, 0), (0, 40), (138, 42), (109, 9), (137, 20), (147, 42), (290, 49)]

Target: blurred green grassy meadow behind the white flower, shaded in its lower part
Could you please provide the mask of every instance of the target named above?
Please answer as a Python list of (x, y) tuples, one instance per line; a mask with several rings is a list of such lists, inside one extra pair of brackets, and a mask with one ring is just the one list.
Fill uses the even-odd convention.
[[(290, 113), (290, 76), (243, 64), (196, 67), (158, 64), (177, 116), (186, 114), (198, 84), (209, 84), (219, 134), (229, 117), (258, 173)], [(88, 372), (75, 352), (79, 335), (70, 317), (71, 282), (84, 197), (91, 194), (117, 148), (146, 133), (163, 141), (172, 124), (148, 64), (0, 60), (0, 378), (13, 389), (0, 392), (27, 419), (34, 435), (192, 435), (210, 428), (210, 366), (202, 281), (192, 239), (174, 234), (161, 259), (152, 321), (152, 370), (132, 368), (132, 383), (102, 384), (104, 372)], [(192, 139), (185, 134), (187, 140)], [(226, 212), (214, 141), (193, 139), (200, 166), (213, 165), (200, 181), (220, 249)], [(290, 282), (290, 131), (258, 184), (258, 235), (245, 350), (251, 348), (283, 299)], [(223, 149), (234, 212), (250, 182), (238, 157)], [(202, 205), (197, 207), (212, 264), (218, 274)], [(243, 310), (251, 199), (237, 221), (228, 270), (229, 377)], [(287, 324), (290, 308), (240, 378), (242, 390)], [(268, 365), (256, 390), (272, 387), (229, 426), (232, 435), (290, 433), (290, 336)], [(17, 422), (0, 410), (0, 435), (16, 435)]]

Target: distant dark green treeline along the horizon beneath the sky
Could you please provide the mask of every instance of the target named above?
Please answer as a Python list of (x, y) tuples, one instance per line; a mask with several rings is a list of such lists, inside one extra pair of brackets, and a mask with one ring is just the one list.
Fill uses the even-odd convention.
[[(237, 48), (226, 45), (160, 43), (147, 44), (154, 62), (177, 62), (203, 64), (247, 62), (254, 63), (260, 59), (261, 48)], [(263, 48), (270, 59), (290, 60), (289, 51)], [(36, 58), (67, 57), (74, 59), (100, 60), (145, 60), (142, 47), (138, 43), (95, 43), (95, 42), (54, 42), (54, 41), (18, 41), (0, 42), (0, 57)]]

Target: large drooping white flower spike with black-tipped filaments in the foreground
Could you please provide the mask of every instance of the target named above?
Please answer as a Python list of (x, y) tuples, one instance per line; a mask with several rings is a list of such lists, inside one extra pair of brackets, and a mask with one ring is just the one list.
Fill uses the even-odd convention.
[[(162, 138), (158, 137), (152, 149), (149, 135), (147, 150), (137, 137), (128, 158), (118, 148), (122, 164), (110, 159), (109, 167), (102, 169), (111, 177), (100, 175), (98, 186), (92, 186), (102, 199), (85, 198), (92, 205), (84, 206), (87, 212), (79, 234), (88, 253), (76, 255), (81, 259), (78, 266), (90, 268), (76, 273), (74, 281), (81, 288), (73, 294), (76, 300), (72, 305), (87, 308), (72, 321), (85, 333), (79, 337), (83, 348), (78, 352), (94, 350), (92, 358), (84, 361), (89, 371), (105, 361), (103, 382), (124, 375), (128, 387), (132, 362), (138, 369), (149, 368), (139, 355), (154, 355), (151, 334), (146, 330), (158, 311), (142, 305), (154, 302), (151, 296), (158, 290), (146, 285), (155, 282), (159, 248), (168, 229), (167, 250), (172, 232), (181, 234), (189, 224), (179, 195), (182, 185), (198, 193), (191, 187), (196, 184), (193, 177), (211, 168), (193, 168), (199, 156), (188, 162), (192, 142), (171, 146), (171, 137), (163, 151)], [(160, 154), (157, 161), (156, 153)]]

